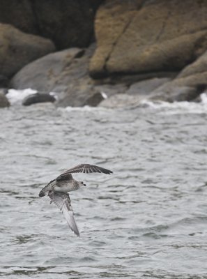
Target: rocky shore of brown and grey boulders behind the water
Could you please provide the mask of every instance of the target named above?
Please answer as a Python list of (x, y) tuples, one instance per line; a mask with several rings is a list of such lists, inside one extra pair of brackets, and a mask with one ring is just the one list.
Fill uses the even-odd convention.
[(55, 91), (63, 106), (98, 105), (105, 94), (113, 107), (197, 100), (206, 14), (202, 0), (0, 0), (0, 75), (15, 89)]

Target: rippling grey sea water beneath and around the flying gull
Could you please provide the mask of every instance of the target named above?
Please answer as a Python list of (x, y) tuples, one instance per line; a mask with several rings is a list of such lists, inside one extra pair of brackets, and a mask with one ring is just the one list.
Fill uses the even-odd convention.
[[(207, 105), (1, 110), (1, 278), (207, 278)], [(79, 163), (77, 238), (45, 184)]]

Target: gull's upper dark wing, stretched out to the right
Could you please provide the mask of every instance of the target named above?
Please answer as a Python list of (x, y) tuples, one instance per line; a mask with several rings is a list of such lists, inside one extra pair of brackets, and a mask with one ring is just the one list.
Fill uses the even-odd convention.
[(102, 172), (103, 174), (112, 174), (113, 172), (109, 169), (104, 169), (103, 167), (98, 167), (96, 165), (89, 164), (81, 164), (76, 167), (72, 167), (72, 169), (67, 169), (66, 172), (63, 172), (60, 176), (65, 176), (66, 174), (72, 174), (75, 172), (84, 172), (85, 174), (89, 174), (91, 172)]

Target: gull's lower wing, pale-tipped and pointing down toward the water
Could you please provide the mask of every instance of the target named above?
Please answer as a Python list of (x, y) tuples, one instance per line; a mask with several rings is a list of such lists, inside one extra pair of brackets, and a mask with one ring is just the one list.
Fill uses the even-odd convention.
[(75, 232), (75, 234), (79, 236), (79, 230), (75, 223), (68, 193), (53, 192), (49, 194), (49, 198), (51, 199), (51, 202), (56, 204), (56, 206), (61, 209), (72, 232)]

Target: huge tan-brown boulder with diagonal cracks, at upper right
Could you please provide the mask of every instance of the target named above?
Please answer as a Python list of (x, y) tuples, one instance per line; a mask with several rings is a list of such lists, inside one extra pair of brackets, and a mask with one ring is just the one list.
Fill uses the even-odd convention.
[(95, 18), (93, 77), (181, 70), (207, 47), (207, 1), (106, 1)]

